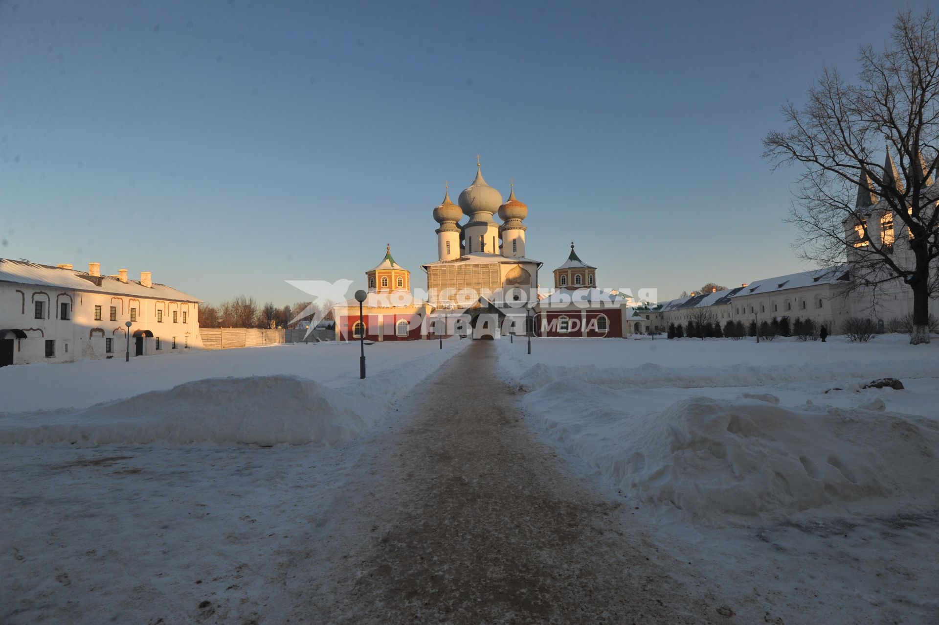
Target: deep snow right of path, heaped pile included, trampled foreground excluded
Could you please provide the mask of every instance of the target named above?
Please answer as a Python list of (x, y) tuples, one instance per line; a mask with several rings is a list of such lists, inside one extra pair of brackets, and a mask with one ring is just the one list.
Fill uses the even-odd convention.
[[(522, 405), (549, 440), (669, 517), (724, 525), (885, 501), (939, 508), (935, 350), (897, 347), (885, 362), (879, 346), (793, 344), (753, 365), (732, 362), (752, 353), (737, 342), (655, 343), (666, 353), (642, 353), (663, 364), (633, 367), (622, 365), (631, 341), (539, 342), (533, 357), (500, 344), (499, 368), (528, 391)], [(614, 366), (585, 363), (592, 351)], [(887, 373), (911, 386), (855, 382)], [(825, 394), (832, 386), (845, 390)]]

